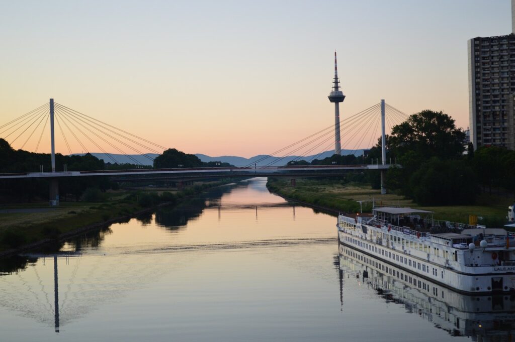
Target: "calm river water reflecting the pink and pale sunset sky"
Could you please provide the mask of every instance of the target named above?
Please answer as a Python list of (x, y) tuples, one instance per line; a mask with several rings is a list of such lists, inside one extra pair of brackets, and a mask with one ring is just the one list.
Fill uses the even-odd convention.
[(334, 217), (265, 184), (2, 260), (0, 341), (511, 340), (508, 298), (467, 312), (460, 302), (476, 298), (451, 306), (371, 269), (364, 278)]

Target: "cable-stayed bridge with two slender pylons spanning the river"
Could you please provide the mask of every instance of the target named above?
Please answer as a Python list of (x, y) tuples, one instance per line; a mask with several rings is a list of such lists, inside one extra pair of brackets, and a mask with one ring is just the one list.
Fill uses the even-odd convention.
[[(385, 146), (385, 134), (394, 124), (404, 121), (407, 114), (397, 110), (382, 100), (364, 111), (348, 116), (322, 130), (310, 134), (298, 141), (289, 144), (269, 155), (264, 155), (254, 163), (244, 167), (205, 167), (170, 169), (143, 168), (140, 161), (131, 157), (131, 154), (140, 154), (149, 160), (153, 158), (149, 154), (161, 154), (165, 147), (132, 134), (112, 124), (98, 120), (92, 116), (83, 114), (70, 107), (54, 102), (39, 106), (18, 118), (0, 125), (0, 137), (9, 141), (11, 147), (19, 149), (28, 148), (38, 152), (42, 143), (48, 143), (51, 147), (52, 170), (33, 170), (33, 172), (11, 172), (0, 174), (0, 179), (23, 178), (49, 178), (51, 199), (57, 196), (58, 179), (64, 177), (94, 177), (108, 176), (113, 181), (128, 180), (157, 180), (157, 179), (205, 179), (214, 177), (249, 177), (249, 176), (282, 176), (282, 177), (313, 177), (313, 176), (338, 176), (349, 170), (386, 170), (392, 164), (386, 160), (386, 152), (383, 148), (382, 158), (376, 158), (371, 164), (365, 165), (300, 165), (303, 161), (312, 162), (324, 151), (334, 144), (334, 132), (341, 132), (341, 147), (351, 151), (371, 147), (378, 137), (382, 138), (382, 146)], [(49, 126), (49, 134), (47, 127)], [(57, 130), (56, 130), (57, 127)], [(57, 131), (57, 134), (56, 134)], [(45, 134), (45, 132), (47, 132)], [(48, 141), (48, 138), (50, 141)], [(80, 146), (81, 151), (101, 151), (109, 157), (111, 164), (118, 163), (110, 151), (127, 156), (135, 165), (142, 168), (131, 170), (73, 170), (68, 171), (66, 165), (56, 167), (56, 141), (60, 143), (61, 150), (74, 154), (72, 146)], [(72, 143), (75, 142), (75, 143)], [(63, 148), (64, 147), (64, 148)], [(77, 153), (78, 151), (75, 151)], [(297, 155), (296, 157), (288, 157)], [(304, 160), (304, 156), (311, 156)], [(272, 158), (274, 157), (274, 158)], [(266, 163), (267, 158), (273, 159)], [(257, 166), (260, 163), (262, 166)], [(266, 163), (266, 164), (264, 164)], [(299, 164), (297, 164), (299, 163)], [(264, 164), (264, 165), (263, 165)], [(282, 165), (281, 165), (282, 164)], [(62, 170), (62, 171), (61, 171)], [(382, 172), (383, 174), (383, 172)]]

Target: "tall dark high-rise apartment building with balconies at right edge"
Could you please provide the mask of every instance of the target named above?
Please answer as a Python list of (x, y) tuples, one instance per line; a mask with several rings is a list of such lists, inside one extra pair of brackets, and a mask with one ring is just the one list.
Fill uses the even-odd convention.
[[(512, 13), (515, 0), (511, 1)], [(512, 29), (515, 31), (515, 15)], [(513, 149), (515, 34), (469, 40), (470, 141)], [(510, 107), (511, 106), (511, 107)]]

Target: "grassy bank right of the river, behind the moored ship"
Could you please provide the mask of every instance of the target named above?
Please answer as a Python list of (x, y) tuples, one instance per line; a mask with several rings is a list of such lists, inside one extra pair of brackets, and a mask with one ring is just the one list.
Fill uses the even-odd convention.
[(286, 199), (311, 204), (339, 212), (358, 212), (362, 202), (363, 212), (372, 211), (372, 205), (406, 206), (435, 212), (435, 219), (452, 222), (469, 222), (469, 215), (482, 217), (480, 224), (501, 226), (504, 224), (511, 197), (482, 194), (473, 206), (421, 207), (410, 199), (396, 194), (382, 195), (380, 190), (363, 184), (342, 183), (332, 179), (297, 179), (291, 186), (288, 179), (269, 178), (267, 187)]

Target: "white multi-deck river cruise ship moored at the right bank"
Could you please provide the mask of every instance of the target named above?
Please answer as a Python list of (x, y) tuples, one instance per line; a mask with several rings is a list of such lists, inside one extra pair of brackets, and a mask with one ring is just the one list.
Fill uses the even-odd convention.
[(515, 291), (515, 236), (433, 220), (433, 212), (374, 208), (339, 214), (338, 241), (461, 293)]

